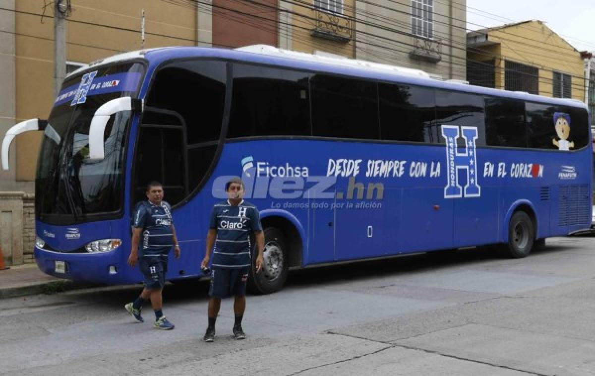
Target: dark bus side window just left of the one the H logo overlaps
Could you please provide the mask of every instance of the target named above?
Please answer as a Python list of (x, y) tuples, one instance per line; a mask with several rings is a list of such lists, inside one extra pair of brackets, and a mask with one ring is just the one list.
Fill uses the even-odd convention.
[(383, 140), (432, 142), (436, 120), (434, 89), (378, 84), (380, 138)]

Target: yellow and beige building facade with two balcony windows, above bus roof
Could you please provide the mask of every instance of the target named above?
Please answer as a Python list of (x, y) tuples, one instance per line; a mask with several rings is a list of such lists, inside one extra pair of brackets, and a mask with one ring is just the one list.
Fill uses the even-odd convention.
[(280, 0), (279, 46), (465, 80), (466, 0)]

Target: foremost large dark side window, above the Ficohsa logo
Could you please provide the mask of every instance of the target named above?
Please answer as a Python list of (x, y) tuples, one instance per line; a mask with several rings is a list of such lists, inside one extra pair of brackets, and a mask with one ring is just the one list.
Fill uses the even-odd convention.
[(227, 137), (310, 136), (310, 74), (233, 65)]

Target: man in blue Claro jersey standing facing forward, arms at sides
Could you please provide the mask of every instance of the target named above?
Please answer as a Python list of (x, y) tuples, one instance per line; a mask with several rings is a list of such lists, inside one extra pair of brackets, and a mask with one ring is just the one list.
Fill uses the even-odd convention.
[(255, 272), (262, 267), (264, 234), (256, 206), (244, 201), (244, 183), (239, 177), (231, 178), (226, 184), (228, 200), (217, 203), (209, 221), (206, 234), (206, 254), (202, 268), (208, 268), (211, 250), (215, 246), (212, 259), (211, 289), (209, 290), (209, 327), (204, 340), (215, 340), (215, 321), (221, 308), (221, 299), (234, 296), (233, 312), (235, 322), (233, 336), (237, 340), (246, 338), (242, 330), (242, 317), (246, 309), (246, 281), (250, 270), (250, 233), (256, 239), (258, 254), (255, 259)]

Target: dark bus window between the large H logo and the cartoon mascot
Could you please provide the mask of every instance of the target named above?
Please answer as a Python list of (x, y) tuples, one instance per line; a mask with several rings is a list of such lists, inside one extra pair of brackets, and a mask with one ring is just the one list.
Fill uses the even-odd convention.
[(485, 101), (487, 145), (527, 148), (525, 102), (497, 97)]

